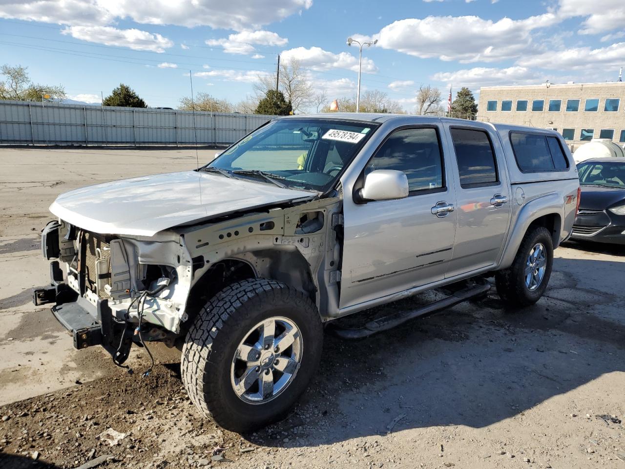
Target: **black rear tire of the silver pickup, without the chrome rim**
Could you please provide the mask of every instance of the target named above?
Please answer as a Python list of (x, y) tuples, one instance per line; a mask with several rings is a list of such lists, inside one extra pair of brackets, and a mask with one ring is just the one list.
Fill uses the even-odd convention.
[[(529, 256), (530, 251), (537, 243), (542, 243), (545, 247), (547, 262), (541, 284), (536, 290), (531, 291), (527, 288), (525, 283), (524, 269), (527, 256)], [(497, 271), (495, 274), (497, 293), (499, 293), (504, 303), (508, 306), (512, 306), (512, 308), (534, 305), (536, 301), (540, 300), (547, 288), (552, 266), (553, 241), (551, 239), (551, 233), (549, 233), (549, 230), (544, 228), (544, 226), (536, 226), (525, 234), (512, 265), (505, 270)]]

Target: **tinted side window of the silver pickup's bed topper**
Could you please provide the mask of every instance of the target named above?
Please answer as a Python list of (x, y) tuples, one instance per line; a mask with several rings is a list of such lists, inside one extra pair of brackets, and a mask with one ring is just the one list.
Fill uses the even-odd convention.
[(555, 137), (512, 132), (510, 143), (516, 163), (524, 173), (554, 171), (569, 167), (564, 151)]

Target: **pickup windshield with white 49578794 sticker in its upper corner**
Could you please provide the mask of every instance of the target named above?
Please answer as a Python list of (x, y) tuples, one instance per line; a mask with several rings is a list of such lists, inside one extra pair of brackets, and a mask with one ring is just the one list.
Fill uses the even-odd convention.
[(272, 121), (203, 169), (218, 168), (237, 178), (267, 183), (273, 179), (291, 188), (325, 192), (378, 125), (335, 119)]

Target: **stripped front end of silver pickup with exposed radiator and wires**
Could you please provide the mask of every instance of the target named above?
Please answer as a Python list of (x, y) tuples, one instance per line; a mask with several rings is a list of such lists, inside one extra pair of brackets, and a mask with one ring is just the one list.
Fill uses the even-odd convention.
[(78, 349), (102, 345), (116, 363), (131, 345), (159, 340), (174, 345), (187, 319), (192, 261), (184, 237), (109, 236), (64, 221), (42, 231), (51, 283), (33, 291), (33, 303), (52, 312)]

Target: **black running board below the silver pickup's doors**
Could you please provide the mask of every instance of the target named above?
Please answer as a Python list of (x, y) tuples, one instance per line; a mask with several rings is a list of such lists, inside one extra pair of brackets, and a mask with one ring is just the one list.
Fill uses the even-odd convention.
[(460, 290), (454, 291), (452, 288), (453, 285), (446, 287), (449, 296), (442, 298), (442, 300), (433, 301), (432, 303), (429, 303), (429, 305), (422, 306), (416, 310), (401, 311), (392, 315), (382, 316), (376, 320), (369, 321), (361, 328), (346, 329), (332, 323), (330, 323), (327, 328), (330, 333), (343, 339), (361, 339), (380, 331), (392, 329), (395, 326), (399, 326), (400, 324), (419, 316), (429, 315), (431, 313), (435, 313), (436, 311), (451, 308), (451, 306), (470, 300), (475, 296), (484, 295), (484, 293), (487, 293), (487, 291), (491, 289), (491, 284), (486, 280), (482, 280), (479, 283), (464, 286), (464, 288), (461, 288)]

